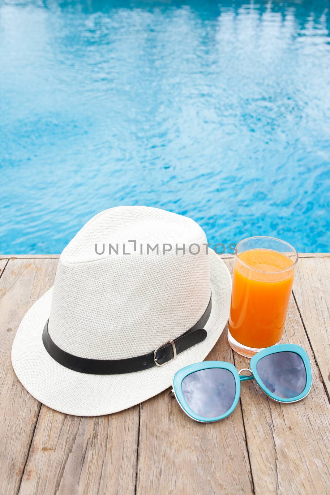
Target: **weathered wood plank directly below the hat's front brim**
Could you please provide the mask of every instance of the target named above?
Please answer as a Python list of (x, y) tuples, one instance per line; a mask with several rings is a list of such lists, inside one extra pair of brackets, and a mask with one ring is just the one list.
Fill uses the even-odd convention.
[(138, 430), (139, 405), (90, 418), (43, 405), (19, 494), (133, 495)]

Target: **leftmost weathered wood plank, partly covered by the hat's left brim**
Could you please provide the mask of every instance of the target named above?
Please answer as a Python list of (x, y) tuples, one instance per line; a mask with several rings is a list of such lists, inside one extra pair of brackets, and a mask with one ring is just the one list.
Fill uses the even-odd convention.
[[(2, 262), (1, 262), (2, 263)], [(26, 311), (51, 287), (55, 260), (9, 260), (0, 278), (0, 480), (2, 494), (17, 493), (40, 411), (17, 380), (11, 345)]]

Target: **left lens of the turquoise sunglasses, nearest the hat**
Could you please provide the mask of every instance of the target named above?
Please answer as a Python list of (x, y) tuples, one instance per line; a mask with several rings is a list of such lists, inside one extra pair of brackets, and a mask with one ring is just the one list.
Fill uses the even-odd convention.
[(234, 402), (235, 378), (222, 368), (195, 371), (182, 381), (182, 392), (195, 414), (216, 418), (225, 414)]

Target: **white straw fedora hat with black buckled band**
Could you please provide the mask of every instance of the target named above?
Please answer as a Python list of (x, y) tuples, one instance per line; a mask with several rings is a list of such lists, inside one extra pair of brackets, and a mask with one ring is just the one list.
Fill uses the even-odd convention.
[(18, 328), (11, 359), (24, 387), (78, 416), (168, 388), (180, 368), (207, 356), (228, 320), (231, 277), (206, 243), (193, 220), (156, 208), (94, 216)]

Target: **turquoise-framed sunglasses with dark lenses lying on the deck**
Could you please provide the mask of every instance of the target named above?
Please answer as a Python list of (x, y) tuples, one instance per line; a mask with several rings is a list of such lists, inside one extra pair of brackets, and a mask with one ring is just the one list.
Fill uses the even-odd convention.
[[(241, 375), (249, 371), (251, 375)], [(312, 386), (311, 362), (306, 351), (293, 344), (261, 350), (250, 368), (239, 372), (231, 363), (203, 361), (190, 364), (173, 377), (172, 397), (195, 421), (210, 423), (229, 416), (235, 409), (240, 382), (255, 380), (261, 390), (278, 402), (297, 402)]]

